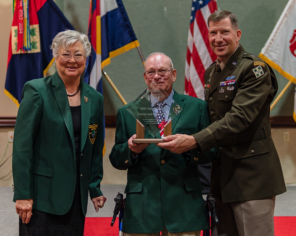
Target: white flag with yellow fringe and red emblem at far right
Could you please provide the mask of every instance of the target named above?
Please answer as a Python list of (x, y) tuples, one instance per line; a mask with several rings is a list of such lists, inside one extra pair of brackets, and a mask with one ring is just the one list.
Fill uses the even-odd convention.
[[(289, 0), (259, 57), (295, 83), (296, 80), (296, 0)], [(296, 122), (296, 87), (293, 117)]]

